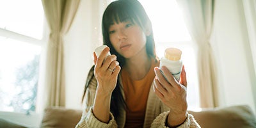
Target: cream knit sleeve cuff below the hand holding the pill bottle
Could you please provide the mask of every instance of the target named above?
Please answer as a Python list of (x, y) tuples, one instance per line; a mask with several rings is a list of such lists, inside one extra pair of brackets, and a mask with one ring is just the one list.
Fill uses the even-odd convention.
[[(151, 127), (167, 127), (165, 124), (169, 112), (170, 111), (166, 111), (157, 116), (156, 119), (152, 122)], [(185, 122), (182, 125), (179, 125), (178, 128), (200, 128), (200, 125), (195, 121), (193, 115), (189, 113), (186, 113), (186, 115), (188, 118), (186, 118)]]

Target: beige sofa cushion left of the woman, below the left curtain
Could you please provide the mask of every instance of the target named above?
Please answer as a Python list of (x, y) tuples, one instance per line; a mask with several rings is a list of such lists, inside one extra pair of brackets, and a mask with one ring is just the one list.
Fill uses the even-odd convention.
[(76, 127), (83, 111), (76, 109), (65, 109), (60, 107), (46, 108), (40, 127)]

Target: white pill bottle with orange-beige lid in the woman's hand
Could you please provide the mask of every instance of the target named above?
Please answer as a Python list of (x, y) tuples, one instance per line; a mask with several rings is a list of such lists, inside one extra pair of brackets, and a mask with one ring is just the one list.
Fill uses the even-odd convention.
[(183, 65), (180, 59), (181, 54), (180, 49), (170, 47), (164, 51), (164, 56), (160, 60), (160, 69), (166, 66), (178, 82)]

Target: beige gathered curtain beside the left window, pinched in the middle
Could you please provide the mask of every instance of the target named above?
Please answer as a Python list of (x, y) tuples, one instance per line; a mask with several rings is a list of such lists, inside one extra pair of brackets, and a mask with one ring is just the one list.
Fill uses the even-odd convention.
[(65, 72), (63, 70), (63, 36), (68, 32), (80, 0), (42, 0), (50, 29), (47, 44), (44, 108), (65, 106)]

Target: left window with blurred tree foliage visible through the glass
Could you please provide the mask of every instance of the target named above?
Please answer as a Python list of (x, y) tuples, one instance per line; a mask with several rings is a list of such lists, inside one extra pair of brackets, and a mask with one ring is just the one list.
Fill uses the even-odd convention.
[(0, 1), (0, 111), (35, 111), (44, 10), (40, 0)]

